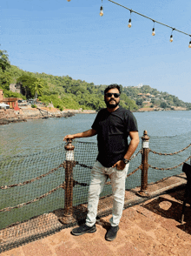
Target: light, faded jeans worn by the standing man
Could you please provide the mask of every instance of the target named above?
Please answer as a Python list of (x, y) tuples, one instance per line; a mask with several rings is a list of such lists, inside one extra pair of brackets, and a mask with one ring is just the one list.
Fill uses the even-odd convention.
[(108, 179), (111, 180), (113, 192), (113, 211), (112, 218), (109, 220), (111, 226), (118, 226), (122, 217), (122, 210), (125, 197), (125, 180), (128, 173), (128, 165), (120, 171), (116, 167), (104, 167), (100, 162), (96, 161), (91, 171), (91, 182), (89, 185), (88, 214), (86, 225), (93, 226), (96, 221), (97, 206), (99, 196), (103, 186)]

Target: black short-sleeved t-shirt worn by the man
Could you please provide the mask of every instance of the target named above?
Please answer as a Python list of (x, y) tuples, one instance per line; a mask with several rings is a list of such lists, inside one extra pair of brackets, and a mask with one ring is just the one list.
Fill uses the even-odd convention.
[(121, 107), (113, 112), (102, 109), (91, 127), (97, 131), (97, 160), (105, 167), (124, 158), (128, 151), (129, 131), (138, 131), (134, 115)]

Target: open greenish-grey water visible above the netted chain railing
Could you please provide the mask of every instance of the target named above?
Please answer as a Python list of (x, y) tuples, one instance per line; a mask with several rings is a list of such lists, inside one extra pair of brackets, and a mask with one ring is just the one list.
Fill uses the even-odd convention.
[[(149, 136), (174, 137), (191, 131), (191, 111), (135, 112), (139, 134), (147, 130)], [(95, 114), (76, 114), (70, 118), (28, 120), (0, 126), (0, 155), (14, 156), (49, 149), (63, 143), (67, 134), (91, 128)], [(81, 138), (81, 141), (96, 141)]]

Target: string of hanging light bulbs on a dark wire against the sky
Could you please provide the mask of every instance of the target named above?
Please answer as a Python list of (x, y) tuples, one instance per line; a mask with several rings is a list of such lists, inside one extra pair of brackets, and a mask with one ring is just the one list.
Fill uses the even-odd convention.
[[(115, 3), (115, 2), (112, 1), (112, 0), (108, 0), (108, 1), (111, 2), (111, 3)], [(163, 26), (166, 26), (166, 27), (172, 29), (172, 32), (173, 32), (173, 30), (176, 30), (175, 28), (170, 27), (170, 26), (168, 26), (167, 24), (162, 24), (161, 22), (158, 22), (158, 21), (152, 19), (151, 17), (145, 16), (145, 15), (143, 15), (142, 13), (139, 13), (139, 12), (137, 12), (137, 11), (135, 11), (135, 10), (129, 9), (128, 7), (123, 6), (123, 5), (120, 4), (120, 3), (115, 3), (115, 4), (121, 6), (122, 8), (125, 8), (125, 9), (127, 9), (127, 10), (130, 10), (130, 12), (135, 12), (136, 14), (138, 14), (138, 15), (140, 15), (140, 16), (142, 16), (142, 17), (146, 17), (146, 18), (152, 20), (154, 23), (157, 23), (157, 24), (161, 24), (161, 25), (163, 25)], [(128, 24), (129, 24), (128, 28), (130, 28), (130, 27), (131, 27), (131, 19), (129, 19)], [(184, 35), (187, 35), (187, 36), (191, 37), (191, 35), (189, 35), (188, 33), (183, 32), (183, 31), (181, 31), (181, 30), (176, 30), (176, 31), (178, 31), (178, 32), (180, 32), (180, 33), (182, 33), (182, 34), (184, 34)], [(152, 36), (155, 36), (155, 27), (153, 28)], [(173, 34), (172, 34), (172, 33), (171, 33), (171, 36), (170, 36), (170, 42), (173, 42)], [(190, 40), (190, 42), (189, 42), (189, 44), (188, 44), (188, 47), (191, 48), (191, 40)]]

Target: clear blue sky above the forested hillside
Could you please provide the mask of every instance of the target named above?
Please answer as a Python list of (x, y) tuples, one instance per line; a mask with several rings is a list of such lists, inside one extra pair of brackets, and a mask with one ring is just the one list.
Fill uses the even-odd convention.
[[(190, 0), (115, 0), (191, 34)], [(101, 5), (104, 15), (99, 16)], [(191, 102), (191, 37), (173, 32), (108, 0), (4, 0), (0, 48), (24, 71), (94, 84), (148, 84)]]

